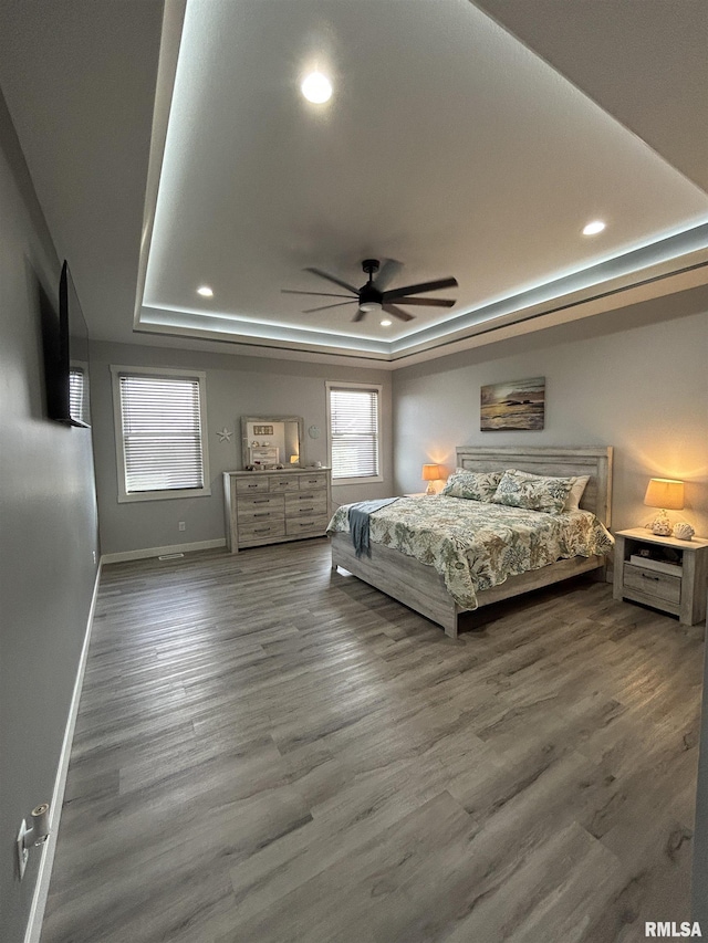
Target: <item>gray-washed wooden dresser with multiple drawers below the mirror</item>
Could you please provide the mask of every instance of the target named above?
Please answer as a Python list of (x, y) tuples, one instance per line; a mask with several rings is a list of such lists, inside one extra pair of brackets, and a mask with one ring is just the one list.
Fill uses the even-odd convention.
[(323, 536), (331, 488), (331, 469), (223, 472), (228, 548)]

